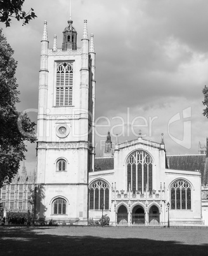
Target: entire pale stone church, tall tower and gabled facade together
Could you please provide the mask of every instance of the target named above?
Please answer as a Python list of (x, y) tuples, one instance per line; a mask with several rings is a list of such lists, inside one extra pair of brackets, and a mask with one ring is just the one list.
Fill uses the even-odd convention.
[[(41, 41), (37, 120), (36, 219), (88, 224), (110, 217), (112, 225), (202, 224), (200, 171), (168, 166), (160, 143), (138, 138), (116, 143), (110, 133), (104, 157), (95, 159), (95, 53), (87, 21), (77, 46), (72, 20), (62, 48)], [(98, 103), (99, 104), (99, 103)]]

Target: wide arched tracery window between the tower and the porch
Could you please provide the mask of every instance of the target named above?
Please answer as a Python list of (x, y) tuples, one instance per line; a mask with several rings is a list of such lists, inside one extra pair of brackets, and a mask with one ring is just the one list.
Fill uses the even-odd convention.
[(109, 210), (109, 186), (96, 180), (89, 186), (89, 210)]

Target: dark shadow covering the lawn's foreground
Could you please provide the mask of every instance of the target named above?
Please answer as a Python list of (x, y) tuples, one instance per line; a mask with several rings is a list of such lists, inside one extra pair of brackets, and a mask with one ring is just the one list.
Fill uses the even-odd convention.
[(141, 238), (54, 235), (44, 234), (44, 229), (36, 229), (36, 232), (34, 229), (15, 227), (1, 229), (1, 255), (207, 255), (208, 252), (207, 244), (184, 245), (176, 241)]

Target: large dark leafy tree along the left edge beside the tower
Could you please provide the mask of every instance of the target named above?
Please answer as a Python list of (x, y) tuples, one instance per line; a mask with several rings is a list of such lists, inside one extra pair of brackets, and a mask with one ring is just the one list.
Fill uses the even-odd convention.
[(11, 182), (27, 152), (25, 141), (36, 141), (34, 122), (16, 110), (19, 102), (13, 50), (0, 29), (0, 187)]

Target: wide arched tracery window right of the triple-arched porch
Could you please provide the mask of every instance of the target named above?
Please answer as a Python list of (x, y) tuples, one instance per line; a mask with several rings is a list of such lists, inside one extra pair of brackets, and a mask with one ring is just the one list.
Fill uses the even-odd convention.
[(192, 188), (185, 180), (176, 180), (171, 185), (171, 210), (192, 209)]

